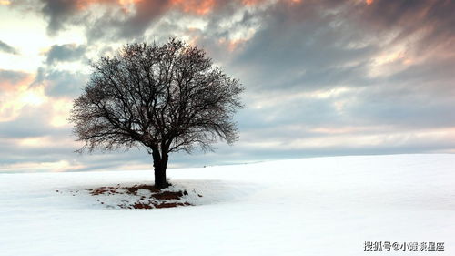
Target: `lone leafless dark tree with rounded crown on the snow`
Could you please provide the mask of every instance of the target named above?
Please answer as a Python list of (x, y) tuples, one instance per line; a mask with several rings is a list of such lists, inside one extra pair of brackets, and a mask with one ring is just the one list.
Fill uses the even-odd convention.
[(232, 144), (232, 120), (244, 90), (204, 50), (177, 39), (164, 45), (131, 44), (101, 57), (70, 120), (78, 151), (143, 146), (153, 156), (155, 186), (168, 186), (168, 154), (211, 150), (217, 139)]

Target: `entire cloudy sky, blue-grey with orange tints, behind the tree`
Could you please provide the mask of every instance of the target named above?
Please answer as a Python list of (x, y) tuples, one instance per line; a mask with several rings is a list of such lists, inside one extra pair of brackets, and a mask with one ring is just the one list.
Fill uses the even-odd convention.
[(239, 139), (169, 167), (455, 153), (455, 1), (0, 0), (0, 172), (152, 169), (142, 148), (77, 154), (90, 61), (169, 37), (246, 88)]

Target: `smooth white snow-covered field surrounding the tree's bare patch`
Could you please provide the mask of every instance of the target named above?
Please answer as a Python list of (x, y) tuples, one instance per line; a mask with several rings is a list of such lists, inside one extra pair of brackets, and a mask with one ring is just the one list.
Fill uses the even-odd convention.
[[(296, 159), (168, 177), (203, 195), (190, 199), (197, 206), (107, 209), (84, 190), (152, 184), (151, 170), (0, 174), (0, 255), (455, 255), (455, 155)], [(365, 241), (444, 242), (445, 251), (364, 251)]]

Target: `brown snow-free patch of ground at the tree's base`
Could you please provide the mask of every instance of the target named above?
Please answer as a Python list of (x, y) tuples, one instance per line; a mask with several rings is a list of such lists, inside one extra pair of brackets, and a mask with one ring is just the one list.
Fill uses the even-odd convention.
[[(122, 209), (160, 209), (191, 205), (188, 202), (180, 201), (183, 196), (188, 194), (185, 190), (160, 190), (150, 185), (122, 187), (120, 184), (113, 187), (99, 187), (87, 190), (92, 196), (130, 195), (132, 200), (122, 200), (121, 203), (116, 205)], [(100, 203), (105, 204), (103, 201)]]

